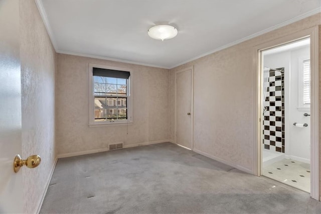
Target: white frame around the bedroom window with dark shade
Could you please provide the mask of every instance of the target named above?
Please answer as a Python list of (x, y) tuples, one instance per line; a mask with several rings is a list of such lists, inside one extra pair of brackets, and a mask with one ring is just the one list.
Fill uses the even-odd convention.
[[(93, 87), (93, 75), (92, 71), (93, 68), (103, 68), (103, 69), (111, 69), (111, 70), (120, 70), (120, 71), (129, 71), (130, 76), (128, 78), (128, 86), (127, 86), (127, 120), (119, 120), (119, 121), (95, 121), (95, 105), (94, 105), (94, 87)], [(102, 127), (102, 126), (115, 126), (115, 125), (127, 125), (133, 123), (133, 117), (132, 117), (132, 79), (133, 79), (133, 72), (129, 68), (122, 68), (122, 67), (114, 67), (114, 66), (108, 66), (108, 65), (98, 65), (98, 64), (89, 64), (88, 69), (88, 84), (89, 84), (89, 127)], [(117, 104), (117, 103), (116, 103)]]

